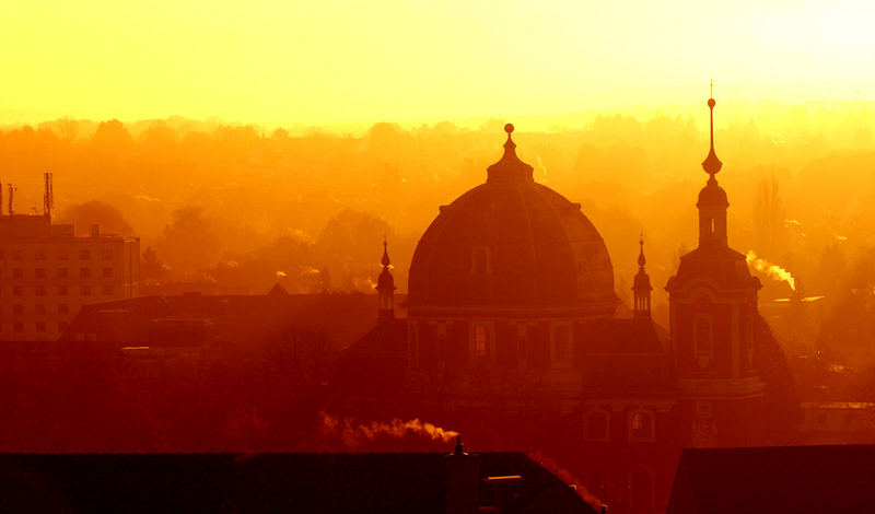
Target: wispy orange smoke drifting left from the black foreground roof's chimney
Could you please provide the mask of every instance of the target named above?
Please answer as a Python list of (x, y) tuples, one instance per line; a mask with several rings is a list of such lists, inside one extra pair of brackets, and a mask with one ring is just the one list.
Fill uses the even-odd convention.
[(354, 418), (340, 419), (325, 411), (319, 412), (319, 418), (322, 419), (323, 433), (339, 436), (343, 444), (350, 448), (357, 448), (363, 443), (373, 442), (381, 435), (389, 437), (422, 435), (432, 441), (443, 443), (450, 443), (458, 435), (458, 432), (420, 421), (418, 418), (408, 421), (396, 418), (389, 422), (361, 422)]

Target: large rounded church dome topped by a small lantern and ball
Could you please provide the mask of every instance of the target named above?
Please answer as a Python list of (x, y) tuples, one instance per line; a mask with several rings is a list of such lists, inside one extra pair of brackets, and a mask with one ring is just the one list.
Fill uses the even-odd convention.
[(534, 182), (516, 156), (513, 126), (505, 130), (487, 183), (441, 207), (422, 235), (409, 313), (611, 314), (618, 300), (602, 236), (579, 203)]

